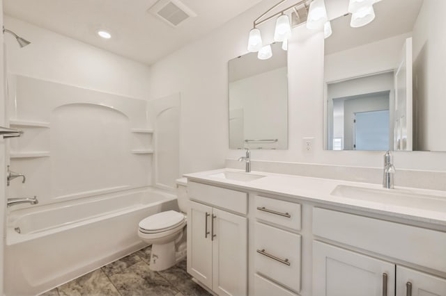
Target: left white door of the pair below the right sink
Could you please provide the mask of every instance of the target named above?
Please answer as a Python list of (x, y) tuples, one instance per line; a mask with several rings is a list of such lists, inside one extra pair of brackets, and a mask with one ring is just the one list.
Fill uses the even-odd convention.
[(390, 296), (394, 282), (394, 264), (313, 242), (314, 296)]

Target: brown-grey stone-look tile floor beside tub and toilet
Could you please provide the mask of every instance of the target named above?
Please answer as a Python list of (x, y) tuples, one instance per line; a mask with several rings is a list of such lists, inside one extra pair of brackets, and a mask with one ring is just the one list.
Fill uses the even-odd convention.
[(161, 272), (148, 268), (151, 247), (109, 263), (41, 296), (210, 295), (186, 272), (186, 260)]

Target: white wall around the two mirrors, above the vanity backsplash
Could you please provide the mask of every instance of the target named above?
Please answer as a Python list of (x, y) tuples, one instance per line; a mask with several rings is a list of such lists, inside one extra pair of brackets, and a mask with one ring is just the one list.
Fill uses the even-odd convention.
[[(327, 0), (329, 15), (333, 2)], [(182, 94), (183, 133), (180, 172), (224, 167), (224, 158), (238, 158), (228, 140), (227, 62), (247, 53), (252, 22), (276, 1), (262, 1), (209, 35), (155, 63), (151, 97)], [(338, 14), (340, 15), (340, 14)], [(261, 28), (262, 30), (262, 28)], [(262, 32), (263, 33), (263, 32)], [(263, 34), (270, 40), (272, 32)], [(323, 34), (305, 26), (293, 30), (289, 42), (289, 149), (252, 151), (254, 160), (382, 167), (380, 151), (323, 150)], [(305, 153), (302, 138), (314, 137), (314, 151)], [(398, 168), (445, 171), (446, 153), (394, 152)], [(255, 170), (255, 167), (253, 167)]]

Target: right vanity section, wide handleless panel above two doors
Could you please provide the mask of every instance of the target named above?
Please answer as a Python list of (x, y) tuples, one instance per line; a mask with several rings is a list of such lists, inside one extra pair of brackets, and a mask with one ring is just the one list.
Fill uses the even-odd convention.
[[(403, 261), (444, 274), (446, 233), (443, 231), (314, 208), (313, 233), (321, 240), (330, 240), (313, 242), (315, 296), (446, 296), (446, 279), (396, 263)], [(343, 247), (333, 245), (338, 242)], [(359, 248), (361, 253), (370, 255), (344, 246)]]

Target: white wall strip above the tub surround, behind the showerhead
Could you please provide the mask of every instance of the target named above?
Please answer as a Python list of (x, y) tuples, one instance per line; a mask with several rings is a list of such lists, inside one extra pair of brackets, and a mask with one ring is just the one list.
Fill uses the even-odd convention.
[(31, 41), (20, 49), (12, 35), (5, 35), (8, 72), (148, 99), (148, 66), (7, 15), (4, 26)]

